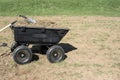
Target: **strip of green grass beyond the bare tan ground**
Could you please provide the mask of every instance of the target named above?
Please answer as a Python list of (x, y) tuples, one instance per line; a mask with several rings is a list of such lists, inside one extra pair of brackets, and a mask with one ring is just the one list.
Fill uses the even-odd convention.
[(120, 16), (120, 0), (0, 0), (0, 15)]

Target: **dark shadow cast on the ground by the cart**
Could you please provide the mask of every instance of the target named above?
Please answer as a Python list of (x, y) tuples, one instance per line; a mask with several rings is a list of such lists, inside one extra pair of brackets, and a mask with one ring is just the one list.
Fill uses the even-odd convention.
[[(67, 58), (67, 55), (66, 55), (67, 53), (77, 49), (76, 47), (74, 47), (73, 45), (71, 45), (69, 43), (60, 43), (58, 45), (61, 46), (65, 51), (65, 57), (63, 60), (65, 60)], [(47, 51), (47, 49), (45, 51), (42, 51), (42, 48), (39, 45), (32, 46), (31, 50), (34, 53), (32, 61), (39, 60), (39, 56), (35, 55), (35, 54), (46, 55), (46, 51)]]

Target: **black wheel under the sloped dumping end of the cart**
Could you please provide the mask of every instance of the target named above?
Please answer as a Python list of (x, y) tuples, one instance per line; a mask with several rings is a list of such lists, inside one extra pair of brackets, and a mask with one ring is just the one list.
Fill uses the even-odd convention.
[(47, 58), (51, 63), (60, 62), (65, 57), (65, 52), (61, 46), (52, 46), (47, 50)]

